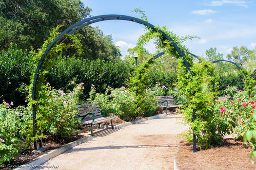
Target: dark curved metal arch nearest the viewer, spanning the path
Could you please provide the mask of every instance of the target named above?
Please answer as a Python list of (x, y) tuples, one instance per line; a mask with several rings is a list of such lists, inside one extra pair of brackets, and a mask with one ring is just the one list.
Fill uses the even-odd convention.
[[(73, 34), (76, 31), (78, 31), (79, 29), (81, 29), (82, 27), (86, 26), (86, 25), (90, 25), (92, 23), (96, 23), (96, 22), (100, 22), (100, 21), (104, 21), (104, 20), (127, 20), (127, 21), (132, 21), (132, 22), (137, 22), (139, 24), (148, 26), (154, 30), (156, 30), (158, 33), (162, 34), (167, 40), (169, 40), (172, 45), (175, 47), (175, 49), (177, 50), (177, 52), (179, 53), (179, 55), (183, 58), (184, 63), (186, 65), (186, 68), (190, 71), (189, 65), (187, 60), (185, 59), (185, 56), (183, 55), (183, 53), (180, 51), (180, 49), (178, 48), (177, 44), (165, 33), (163, 33), (161, 30), (159, 30), (157, 27), (155, 27), (154, 25), (135, 18), (135, 17), (130, 17), (130, 16), (124, 16), (124, 15), (101, 15), (101, 16), (96, 16), (96, 17), (90, 17), (90, 18), (86, 18), (84, 20), (81, 20), (79, 22), (77, 22), (76, 24), (68, 27), (66, 30), (64, 30), (61, 34), (59, 34), (58, 37), (56, 37), (52, 43), (48, 46), (48, 48), (46, 49), (46, 51), (44, 52), (44, 54), (42, 55), (38, 67), (36, 69), (36, 73), (34, 76), (34, 81), (33, 81), (33, 89), (32, 89), (32, 100), (35, 100), (35, 92), (36, 92), (36, 82), (37, 82), (37, 76), (39, 73), (39, 69), (42, 65), (42, 62), (46, 56), (46, 54), (48, 53), (48, 51), (53, 47), (53, 45), (58, 42), (59, 40), (64, 41), (65, 38), (63, 39), (64, 34)], [(33, 134), (34, 136), (36, 135), (36, 127), (35, 127), (35, 123), (36, 123), (36, 106), (35, 104), (32, 104), (32, 108), (33, 108)], [(36, 141), (34, 141), (34, 148), (37, 148), (36, 145)]]

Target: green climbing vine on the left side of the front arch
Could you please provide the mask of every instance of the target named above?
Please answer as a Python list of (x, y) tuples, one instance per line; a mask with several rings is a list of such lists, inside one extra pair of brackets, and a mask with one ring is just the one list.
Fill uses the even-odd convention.
[[(43, 131), (47, 129), (47, 122), (51, 117), (49, 116), (49, 108), (51, 108), (51, 104), (49, 103), (49, 92), (48, 92), (48, 86), (46, 85), (46, 74), (48, 73), (48, 70), (53, 67), (58, 59), (61, 56), (61, 52), (63, 49), (68, 49), (69, 47), (75, 46), (75, 47), (81, 47), (79, 40), (75, 35), (65, 35), (67, 38), (69, 38), (73, 44), (63, 44), (63, 43), (56, 43), (47, 53), (47, 55), (44, 58), (44, 62), (42, 62), (41, 67), (39, 69), (39, 73), (37, 76), (37, 82), (36, 82), (36, 93), (35, 93), (35, 99), (32, 100), (32, 87), (34, 82), (34, 76), (36, 72), (37, 65), (39, 63), (39, 60), (41, 59), (44, 51), (48, 48), (50, 43), (59, 35), (58, 33), (59, 27), (56, 29), (53, 29), (53, 31), (50, 34), (50, 37), (44, 42), (42, 45), (42, 48), (39, 49), (38, 52), (33, 51), (34, 56), (33, 60), (35, 63), (35, 66), (33, 66), (33, 69), (31, 71), (31, 80), (30, 80), (30, 86), (29, 86), (29, 107), (32, 109), (32, 104), (35, 104), (37, 109), (37, 133), (35, 138), (41, 137), (42, 134), (40, 134), (40, 131)], [(78, 48), (78, 53), (81, 54), (82, 49)], [(48, 119), (49, 118), (49, 119)]]

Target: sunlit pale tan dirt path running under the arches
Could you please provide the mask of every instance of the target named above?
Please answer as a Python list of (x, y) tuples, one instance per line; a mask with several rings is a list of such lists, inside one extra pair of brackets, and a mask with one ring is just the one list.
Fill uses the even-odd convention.
[(177, 116), (151, 119), (121, 129), (102, 129), (95, 138), (43, 165), (58, 170), (172, 170), (185, 127)]

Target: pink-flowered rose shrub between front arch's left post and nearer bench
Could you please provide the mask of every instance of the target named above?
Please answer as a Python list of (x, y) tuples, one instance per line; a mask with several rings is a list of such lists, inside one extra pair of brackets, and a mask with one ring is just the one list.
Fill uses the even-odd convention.
[(48, 91), (48, 101), (44, 106), (48, 114), (44, 117), (44, 122), (39, 124), (44, 134), (70, 138), (72, 132), (78, 130), (81, 125), (77, 119), (78, 109), (76, 106), (79, 104), (83, 83), (70, 86), (73, 86), (73, 91), (66, 93), (63, 90), (52, 88), (50, 84), (44, 87)]

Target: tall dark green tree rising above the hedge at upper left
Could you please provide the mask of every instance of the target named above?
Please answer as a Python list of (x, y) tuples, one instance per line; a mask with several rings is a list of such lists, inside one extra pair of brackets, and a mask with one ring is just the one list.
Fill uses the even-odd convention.
[[(50, 31), (58, 25), (63, 31), (81, 19), (90, 17), (90, 9), (80, 0), (0, 0), (0, 50), (13, 42), (21, 49), (38, 49)], [(119, 49), (110, 35), (87, 26), (77, 33), (83, 44), (84, 58), (117, 61)], [(67, 52), (73, 55), (75, 51)]]

